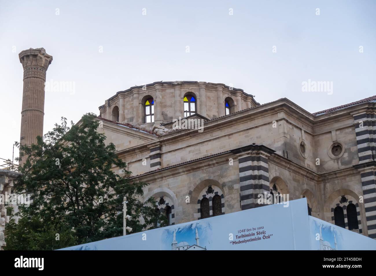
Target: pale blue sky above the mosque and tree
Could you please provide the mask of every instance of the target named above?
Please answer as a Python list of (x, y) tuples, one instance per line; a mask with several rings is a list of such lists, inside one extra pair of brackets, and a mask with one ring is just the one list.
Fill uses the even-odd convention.
[[(30, 47), (53, 56), (47, 80), (76, 84), (74, 95), (46, 92), (44, 133), (61, 116), (77, 122), (120, 90), (161, 80), (232, 83), (261, 104), (286, 97), (309, 112), (376, 94), (376, 1), (0, 0), (0, 7), (2, 158), (12, 158), (20, 139), (18, 53)], [(333, 81), (333, 94), (302, 92), (308, 79)]]

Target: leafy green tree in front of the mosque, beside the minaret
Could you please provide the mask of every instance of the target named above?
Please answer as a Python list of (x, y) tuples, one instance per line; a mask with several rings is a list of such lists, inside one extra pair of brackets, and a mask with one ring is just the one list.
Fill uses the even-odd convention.
[(36, 144), (16, 143), (20, 158), (26, 155), (27, 160), (13, 192), (31, 194), (32, 204), (20, 205), (18, 222), (12, 218), (6, 225), (6, 249), (58, 249), (120, 236), (124, 196), (132, 233), (166, 225), (156, 201), (143, 201), (148, 184), (129, 178), (115, 145), (106, 145), (105, 135), (97, 132), (99, 124), (92, 113), (71, 127), (62, 118)]

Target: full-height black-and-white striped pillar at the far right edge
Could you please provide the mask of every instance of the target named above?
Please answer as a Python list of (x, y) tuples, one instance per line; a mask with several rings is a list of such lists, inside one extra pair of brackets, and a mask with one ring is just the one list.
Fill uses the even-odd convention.
[(356, 114), (354, 124), (359, 155), (359, 165), (355, 167), (361, 172), (368, 237), (376, 238), (376, 147), (374, 143), (376, 115), (374, 113)]

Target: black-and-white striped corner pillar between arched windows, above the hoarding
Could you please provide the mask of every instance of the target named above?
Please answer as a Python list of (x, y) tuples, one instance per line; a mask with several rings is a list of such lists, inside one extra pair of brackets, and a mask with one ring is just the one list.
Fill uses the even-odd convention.
[(240, 205), (241, 210), (260, 207), (258, 195), (269, 190), (268, 159), (260, 153), (239, 155)]

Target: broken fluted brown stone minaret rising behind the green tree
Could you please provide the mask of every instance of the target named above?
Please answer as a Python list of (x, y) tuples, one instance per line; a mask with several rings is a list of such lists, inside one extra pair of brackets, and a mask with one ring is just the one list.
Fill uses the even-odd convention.
[[(44, 48), (30, 48), (18, 56), (24, 69), (20, 144), (31, 145), (37, 136), (43, 136), (44, 83), (52, 56)], [(26, 156), (20, 164), (25, 160)]]

